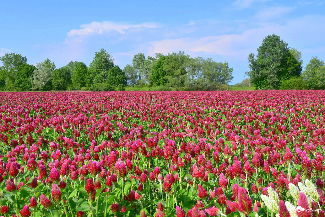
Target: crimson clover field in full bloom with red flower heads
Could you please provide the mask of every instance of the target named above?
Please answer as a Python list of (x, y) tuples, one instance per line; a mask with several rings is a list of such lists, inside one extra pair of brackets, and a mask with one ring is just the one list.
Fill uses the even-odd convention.
[(2, 92), (1, 216), (324, 216), (325, 91)]

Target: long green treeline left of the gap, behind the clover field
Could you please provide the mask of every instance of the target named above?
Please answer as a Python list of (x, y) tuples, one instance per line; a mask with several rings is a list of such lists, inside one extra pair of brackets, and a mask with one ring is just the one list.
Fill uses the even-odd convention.
[(233, 69), (227, 62), (191, 57), (184, 52), (154, 57), (139, 53), (132, 65), (122, 70), (113, 57), (101, 49), (89, 66), (69, 62), (57, 68), (49, 59), (36, 66), (27, 64), (21, 54), (0, 57), (0, 89), (122, 91), (125, 86), (148, 87), (149, 90), (230, 90)]

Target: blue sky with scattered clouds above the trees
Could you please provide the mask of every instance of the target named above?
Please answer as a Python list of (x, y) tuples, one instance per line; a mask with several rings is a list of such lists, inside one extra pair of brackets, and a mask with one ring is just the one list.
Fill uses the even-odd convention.
[(325, 60), (325, 1), (2, 1), (0, 55), (22, 54), (27, 63), (49, 58), (57, 67), (86, 65), (101, 48), (123, 68), (142, 52), (228, 61), (232, 84), (244, 79), (247, 57), (268, 34)]

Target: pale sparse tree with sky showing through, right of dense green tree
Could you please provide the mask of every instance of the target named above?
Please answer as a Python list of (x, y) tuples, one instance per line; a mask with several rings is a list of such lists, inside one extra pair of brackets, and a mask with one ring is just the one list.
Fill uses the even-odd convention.
[(203, 61), (204, 59), (200, 56), (187, 58), (185, 63), (188, 76), (185, 82), (186, 88), (200, 90), (208, 86), (207, 80), (203, 76)]

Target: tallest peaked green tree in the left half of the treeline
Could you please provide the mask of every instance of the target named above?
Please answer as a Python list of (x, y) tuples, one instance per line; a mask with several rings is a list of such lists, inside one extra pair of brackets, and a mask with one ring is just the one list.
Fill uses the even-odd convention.
[(92, 83), (103, 83), (107, 79), (108, 70), (114, 66), (113, 57), (101, 49), (95, 53), (93, 62), (89, 66), (89, 76)]

